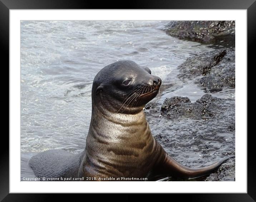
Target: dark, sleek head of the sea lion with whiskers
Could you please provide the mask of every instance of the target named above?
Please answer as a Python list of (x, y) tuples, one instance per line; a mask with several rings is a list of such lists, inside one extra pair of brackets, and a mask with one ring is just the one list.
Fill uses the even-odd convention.
[(151, 101), (162, 80), (151, 74), (148, 67), (130, 60), (105, 66), (93, 81), (92, 101), (115, 113), (136, 113)]

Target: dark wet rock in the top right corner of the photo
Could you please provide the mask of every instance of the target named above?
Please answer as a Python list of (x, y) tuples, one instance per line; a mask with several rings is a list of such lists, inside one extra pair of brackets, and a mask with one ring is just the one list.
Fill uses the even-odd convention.
[(235, 47), (235, 21), (171, 21), (164, 30), (179, 39)]

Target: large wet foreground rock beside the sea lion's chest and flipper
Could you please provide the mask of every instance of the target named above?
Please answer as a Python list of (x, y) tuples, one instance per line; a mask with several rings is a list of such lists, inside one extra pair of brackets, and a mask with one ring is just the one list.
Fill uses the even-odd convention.
[[(205, 94), (191, 102), (187, 97), (171, 97), (162, 106), (154, 107), (158, 111), (153, 114), (147, 113), (152, 108), (144, 110), (152, 134), (183, 165), (201, 167), (235, 154), (235, 99)], [(234, 178), (235, 158), (232, 158), (211, 175), (195, 180), (233, 181)]]

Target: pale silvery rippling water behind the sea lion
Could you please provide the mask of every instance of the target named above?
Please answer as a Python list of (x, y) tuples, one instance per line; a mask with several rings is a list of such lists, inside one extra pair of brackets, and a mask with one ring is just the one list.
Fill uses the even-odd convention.
[[(84, 149), (92, 82), (112, 62), (133, 60), (171, 85), (160, 102), (176, 95), (195, 101), (205, 94), (192, 81), (179, 80), (177, 66), (213, 49), (166, 35), (167, 23), (21, 21), (21, 177), (33, 175), (28, 160), (35, 153)], [(214, 96), (234, 97), (235, 92)]]

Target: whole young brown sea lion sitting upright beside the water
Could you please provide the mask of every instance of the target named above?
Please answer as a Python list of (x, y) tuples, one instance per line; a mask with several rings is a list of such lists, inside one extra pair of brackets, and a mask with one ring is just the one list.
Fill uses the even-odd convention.
[(169, 156), (152, 136), (143, 112), (161, 84), (147, 67), (133, 61), (105, 66), (93, 81), (92, 117), (84, 151), (76, 155), (63, 150), (41, 152), (29, 161), (35, 175), (53, 181), (196, 178), (234, 157), (189, 168)]

